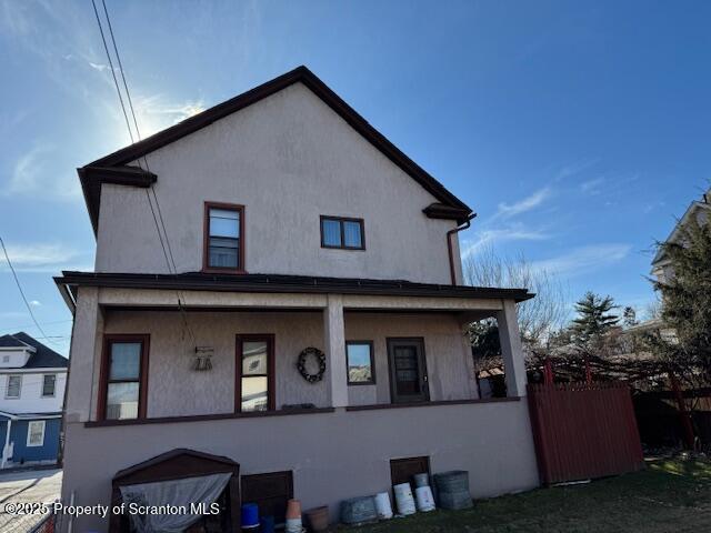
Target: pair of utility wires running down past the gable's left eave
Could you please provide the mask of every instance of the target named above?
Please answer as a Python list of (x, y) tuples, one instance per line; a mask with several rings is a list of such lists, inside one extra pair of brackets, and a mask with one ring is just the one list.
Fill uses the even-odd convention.
[[(131, 111), (131, 117), (133, 119), (133, 125), (136, 128), (136, 137), (138, 138), (138, 140), (141, 139), (141, 133), (140, 133), (140, 129), (138, 125), (138, 120), (136, 118), (136, 110), (133, 108), (133, 102), (131, 100), (131, 93), (129, 91), (129, 86), (128, 82), (126, 80), (126, 73), (123, 71), (123, 64), (121, 62), (121, 54), (119, 53), (119, 48), (117, 46), (116, 42), (116, 37), (113, 34), (113, 27), (111, 26), (111, 17), (109, 16), (109, 10), (107, 9), (107, 4), (106, 4), (106, 0), (101, 0), (102, 7), (103, 7), (103, 12), (107, 19), (107, 23), (108, 23), (108, 28), (109, 28), (109, 34), (111, 37), (111, 43), (113, 46), (113, 53), (116, 54), (116, 59), (117, 59), (117, 63), (119, 64), (119, 71), (121, 72), (121, 81), (123, 82), (123, 89), (126, 91), (126, 99), (128, 101), (129, 104), (129, 109)], [(93, 6), (93, 10), (94, 10), (94, 14), (97, 16), (97, 24), (99, 26), (99, 31), (101, 33), (101, 40), (103, 42), (103, 48), (107, 52), (107, 58), (109, 60), (109, 66), (111, 67), (111, 74), (113, 77), (113, 84), (116, 86), (116, 90), (117, 93), (119, 94), (119, 101), (121, 102), (121, 109), (123, 110), (123, 118), (126, 119), (126, 125), (129, 129), (129, 135), (131, 138), (131, 143), (136, 142), (133, 140), (133, 134), (131, 131), (131, 125), (129, 123), (129, 118), (128, 118), (128, 112), (126, 111), (126, 105), (123, 104), (123, 97), (121, 95), (121, 89), (119, 88), (119, 81), (116, 77), (116, 72), (113, 70), (113, 62), (111, 60), (111, 54), (109, 52), (109, 47), (107, 44), (107, 40), (106, 40), (106, 36), (103, 33), (103, 27), (101, 24), (101, 19), (99, 18), (99, 12), (97, 10), (97, 4), (94, 0), (91, 0), (91, 4)], [(146, 164), (146, 171), (150, 172), (150, 168), (148, 165), (148, 159), (146, 155), (143, 155), (143, 162)], [(140, 159), (138, 160), (138, 165), (139, 168), (141, 168), (141, 161)], [(158, 232), (158, 240), (160, 241), (161, 244), (161, 249), (163, 251), (163, 258), (166, 259), (166, 264), (168, 265), (168, 271), (177, 274), (178, 273), (178, 268), (176, 265), (176, 259), (173, 257), (173, 252), (172, 252), (172, 248), (170, 247), (170, 239), (168, 239), (168, 230), (166, 229), (166, 223), (163, 221), (163, 214), (161, 212), (160, 209), (160, 203), (158, 202), (158, 195), (156, 194), (156, 190), (151, 187), (150, 188), (153, 191), (153, 199), (156, 200), (156, 210), (158, 211), (158, 215), (156, 214), (156, 210), (153, 209), (153, 202), (151, 202), (151, 198), (150, 198), (150, 193), (148, 191), (148, 189), (146, 190), (146, 198), (148, 200), (148, 205), (151, 210), (151, 214), (153, 217), (153, 222), (156, 224), (156, 230)], [(159, 225), (159, 221), (160, 221), (160, 225)], [(162, 234), (161, 234), (161, 228), (162, 228)], [(163, 235), (166, 238), (164, 242), (163, 242)], [(196, 341), (196, 336), (192, 333), (192, 330), (190, 328), (190, 324), (188, 323), (188, 316), (187, 316), (187, 312), (186, 309), (182, 305), (182, 301), (184, 300), (184, 298), (182, 296), (182, 293), (180, 291), (176, 291), (176, 294), (178, 296), (178, 309), (180, 310), (181, 313), (181, 318), (183, 321), (183, 326), (184, 329), (188, 331), (188, 333), (190, 334), (190, 336), (192, 338), (193, 342)]]

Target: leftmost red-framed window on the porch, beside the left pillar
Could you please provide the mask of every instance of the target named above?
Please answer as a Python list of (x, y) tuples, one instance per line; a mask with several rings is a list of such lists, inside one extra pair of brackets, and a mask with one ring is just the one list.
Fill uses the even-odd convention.
[(148, 343), (148, 335), (106, 336), (100, 418), (146, 418)]

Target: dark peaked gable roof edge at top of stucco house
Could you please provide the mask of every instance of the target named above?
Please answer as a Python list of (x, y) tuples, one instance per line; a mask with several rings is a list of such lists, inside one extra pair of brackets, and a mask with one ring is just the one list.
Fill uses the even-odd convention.
[[(156, 175), (137, 167), (131, 167), (129, 163), (298, 82), (309, 88), (351, 128), (422, 185), (438, 200), (439, 204), (449, 208), (450, 218), (461, 223), (472, 212), (471, 208), (449, 192), (444, 185), (437, 181), (430, 173), (400, 151), (400, 149), (368, 123), (365, 119), (358, 114), (353, 108), (346, 103), (313, 72), (301, 66), (254, 89), (190, 117), (182, 122), (159, 131), (142, 141), (136, 142), (78, 169), (94, 233), (97, 232), (99, 219), (101, 183), (150, 187), (150, 183), (156, 180)], [(126, 180), (123, 177), (126, 177)], [(439, 210), (439, 218), (443, 218), (441, 210)]]

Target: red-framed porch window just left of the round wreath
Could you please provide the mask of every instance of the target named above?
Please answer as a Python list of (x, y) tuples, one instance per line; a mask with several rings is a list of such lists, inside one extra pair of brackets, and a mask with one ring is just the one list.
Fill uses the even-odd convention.
[(237, 336), (234, 411), (274, 409), (273, 335)]

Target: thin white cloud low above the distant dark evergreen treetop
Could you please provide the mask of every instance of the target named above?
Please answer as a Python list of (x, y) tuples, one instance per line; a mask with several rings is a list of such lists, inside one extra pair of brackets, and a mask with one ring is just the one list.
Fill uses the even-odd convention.
[(534, 261), (532, 268), (551, 274), (574, 276), (618, 263), (629, 255), (631, 249), (630, 244), (579, 247), (554, 258)]

